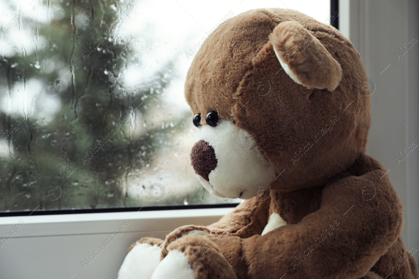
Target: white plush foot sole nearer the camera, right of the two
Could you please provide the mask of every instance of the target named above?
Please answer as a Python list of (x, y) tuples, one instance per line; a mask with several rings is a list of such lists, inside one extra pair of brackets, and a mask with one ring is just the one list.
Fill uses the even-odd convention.
[(160, 262), (151, 279), (195, 279), (185, 253), (172, 250)]

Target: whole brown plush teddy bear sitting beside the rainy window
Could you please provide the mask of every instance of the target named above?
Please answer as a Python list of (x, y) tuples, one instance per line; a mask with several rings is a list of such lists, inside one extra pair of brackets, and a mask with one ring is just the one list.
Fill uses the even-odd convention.
[(120, 279), (419, 278), (402, 205), (365, 154), (367, 74), (336, 28), (295, 10), (249, 10), (194, 57), (185, 97), (191, 165), (244, 201), (209, 226), (130, 247)]

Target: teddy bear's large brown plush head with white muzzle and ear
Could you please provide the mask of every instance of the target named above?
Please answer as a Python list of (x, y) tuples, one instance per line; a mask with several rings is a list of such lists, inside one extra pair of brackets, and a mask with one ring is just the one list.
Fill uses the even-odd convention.
[(192, 61), (185, 95), (199, 129), (191, 164), (219, 197), (320, 186), (365, 152), (360, 55), (294, 10), (250, 10), (219, 26)]

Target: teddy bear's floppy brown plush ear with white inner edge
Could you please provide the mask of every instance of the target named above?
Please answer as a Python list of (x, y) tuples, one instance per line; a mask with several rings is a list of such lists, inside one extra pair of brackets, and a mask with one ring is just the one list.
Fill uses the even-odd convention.
[(297, 21), (279, 23), (269, 35), (269, 41), (285, 72), (298, 84), (329, 91), (339, 85), (341, 65)]

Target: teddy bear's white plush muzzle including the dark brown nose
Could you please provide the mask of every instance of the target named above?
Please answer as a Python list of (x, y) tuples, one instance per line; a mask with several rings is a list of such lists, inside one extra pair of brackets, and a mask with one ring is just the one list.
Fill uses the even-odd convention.
[(217, 197), (250, 199), (275, 179), (275, 169), (256, 146), (253, 136), (231, 121), (199, 125), (191, 150), (199, 182)]

